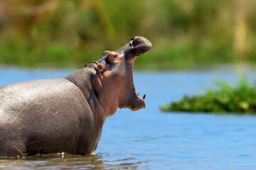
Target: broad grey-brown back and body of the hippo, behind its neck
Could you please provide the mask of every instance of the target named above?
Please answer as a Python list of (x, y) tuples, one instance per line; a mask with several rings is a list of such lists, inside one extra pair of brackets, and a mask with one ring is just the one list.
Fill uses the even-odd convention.
[(81, 147), (80, 140), (86, 146), (82, 154), (90, 153), (94, 146), (89, 140), (97, 138), (87, 134), (93, 132), (93, 119), (85, 96), (66, 79), (38, 79), (2, 86), (0, 155), (76, 153)]

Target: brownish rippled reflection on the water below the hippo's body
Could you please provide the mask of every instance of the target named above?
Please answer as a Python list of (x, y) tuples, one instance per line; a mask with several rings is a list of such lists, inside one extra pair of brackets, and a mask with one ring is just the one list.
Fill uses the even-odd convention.
[(0, 169), (137, 169), (141, 162), (133, 158), (104, 161), (107, 155), (42, 154), (21, 159), (0, 159)]

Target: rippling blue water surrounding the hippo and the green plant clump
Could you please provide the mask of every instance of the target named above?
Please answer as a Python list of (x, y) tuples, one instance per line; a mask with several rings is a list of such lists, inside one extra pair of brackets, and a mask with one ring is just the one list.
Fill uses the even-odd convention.
[[(65, 77), (70, 70), (0, 69), (0, 86), (14, 81)], [(46, 154), (0, 159), (0, 169), (256, 169), (256, 116), (162, 113), (159, 106), (184, 94), (203, 94), (216, 79), (236, 84), (240, 72), (134, 74), (146, 108), (118, 110), (107, 118), (96, 156)], [(255, 71), (245, 76), (256, 81)]]

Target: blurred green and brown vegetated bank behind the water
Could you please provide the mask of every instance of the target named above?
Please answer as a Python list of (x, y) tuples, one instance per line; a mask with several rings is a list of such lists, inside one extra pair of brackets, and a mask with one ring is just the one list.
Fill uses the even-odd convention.
[(255, 0), (1, 0), (0, 64), (80, 68), (134, 35), (136, 69), (256, 62)]

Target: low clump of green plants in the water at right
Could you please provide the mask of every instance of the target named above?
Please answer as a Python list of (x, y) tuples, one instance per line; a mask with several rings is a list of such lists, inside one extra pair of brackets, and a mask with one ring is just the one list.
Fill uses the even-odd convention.
[(186, 111), (196, 113), (247, 113), (256, 114), (256, 87), (240, 80), (235, 88), (223, 81), (217, 82), (218, 91), (208, 90), (199, 96), (183, 96), (161, 106), (162, 111)]

